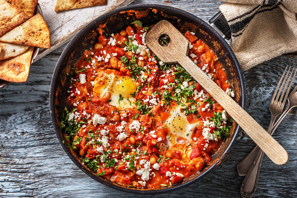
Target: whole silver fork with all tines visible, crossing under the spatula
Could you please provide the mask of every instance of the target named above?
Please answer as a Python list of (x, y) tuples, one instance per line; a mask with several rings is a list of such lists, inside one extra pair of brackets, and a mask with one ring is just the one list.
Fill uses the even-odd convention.
[[(288, 70), (287, 70), (287, 68), (288, 68), (288, 66), (286, 67), (284, 73), (282, 74), (281, 79), (279, 80), (279, 83), (277, 84), (277, 88), (274, 91), (274, 94), (272, 96), (271, 103), (269, 106), (269, 110), (271, 112), (271, 121), (270, 121), (268, 131), (267, 131), (269, 134), (271, 134), (271, 132), (272, 132), (275, 119), (277, 118), (277, 116), (279, 114), (282, 113), (282, 110), (284, 109), (284, 106), (285, 106), (285, 103), (287, 100), (287, 96), (289, 94), (294, 77), (296, 75), (297, 70), (295, 70), (295, 72), (294, 72), (294, 68), (293, 68), (292, 71), (290, 72), (291, 67), (289, 67)], [(294, 72), (294, 75), (292, 77), (293, 72)], [(290, 76), (287, 78), (289, 73), (290, 73)], [(291, 77), (292, 77), (292, 79), (291, 79)], [(290, 85), (289, 85), (289, 81), (290, 81)], [(281, 87), (279, 87), (279, 85), (281, 85)], [(282, 94), (282, 95), (280, 96), (280, 94)], [(255, 191), (257, 189), (257, 183), (258, 183), (258, 178), (259, 178), (259, 174), (260, 174), (260, 168), (261, 168), (263, 154), (264, 154), (263, 151), (260, 150), (260, 148), (259, 148), (257, 157), (256, 157), (254, 163), (252, 164), (252, 166), (250, 167), (249, 172), (247, 173), (246, 177), (244, 178), (244, 180), (241, 184), (240, 194), (244, 198), (250, 198), (255, 194)]]

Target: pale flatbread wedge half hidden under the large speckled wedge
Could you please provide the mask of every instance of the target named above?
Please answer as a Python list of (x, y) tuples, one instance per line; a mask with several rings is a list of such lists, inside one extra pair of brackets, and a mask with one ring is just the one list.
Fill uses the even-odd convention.
[(2, 50), (0, 52), (0, 60), (18, 56), (24, 53), (30, 47), (28, 45), (17, 45), (5, 42), (0, 42), (0, 45), (2, 46)]

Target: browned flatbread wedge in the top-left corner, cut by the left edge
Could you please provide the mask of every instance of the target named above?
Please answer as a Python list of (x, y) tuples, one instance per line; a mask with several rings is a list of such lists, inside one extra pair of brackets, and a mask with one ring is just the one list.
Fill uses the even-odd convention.
[(20, 25), (30, 17), (18, 7), (0, 0), (0, 36)]

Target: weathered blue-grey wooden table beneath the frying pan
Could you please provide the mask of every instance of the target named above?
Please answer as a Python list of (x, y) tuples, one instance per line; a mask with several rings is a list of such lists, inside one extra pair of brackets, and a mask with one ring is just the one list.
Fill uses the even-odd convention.
[[(170, 0), (172, 1), (172, 0)], [(204, 1), (136, 0), (133, 4), (165, 4), (184, 9), (208, 21), (222, 3)], [(96, 182), (69, 159), (50, 121), (50, 81), (65, 45), (34, 63), (26, 83), (10, 83), (0, 89), (0, 197), (140, 197)], [(272, 92), (286, 65), (297, 67), (297, 55), (283, 55), (244, 72), (247, 112), (264, 128), (270, 122)], [(295, 85), (297, 80), (295, 80)], [(264, 156), (255, 197), (297, 197), (297, 118), (291, 111), (274, 133), (290, 155), (285, 166)], [(231, 152), (205, 178), (184, 189), (153, 197), (240, 197), (236, 164), (255, 143), (241, 131)], [(152, 197), (152, 196), (141, 196)]]

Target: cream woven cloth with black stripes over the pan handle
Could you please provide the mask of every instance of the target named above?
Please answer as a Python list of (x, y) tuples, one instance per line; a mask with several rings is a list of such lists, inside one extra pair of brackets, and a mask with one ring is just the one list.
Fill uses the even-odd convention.
[(297, 51), (297, 0), (224, 1), (219, 8), (242, 70)]

